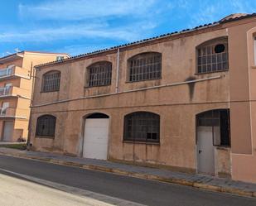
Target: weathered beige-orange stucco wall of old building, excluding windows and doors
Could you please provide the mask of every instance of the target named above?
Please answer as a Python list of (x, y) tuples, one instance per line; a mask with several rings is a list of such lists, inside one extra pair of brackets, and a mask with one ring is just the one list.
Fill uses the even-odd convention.
[[(32, 148), (83, 156), (86, 117), (104, 113), (109, 160), (197, 172), (196, 115), (229, 109), (231, 146), (215, 146), (215, 175), (256, 182), (254, 32), (256, 18), (249, 17), (38, 66)], [(196, 47), (224, 36), (229, 69), (197, 74)], [(144, 52), (162, 54), (162, 78), (128, 82), (128, 59)], [(88, 88), (86, 68), (99, 61), (112, 63), (111, 85)], [(51, 70), (60, 71), (60, 91), (40, 93), (41, 78)], [(138, 111), (160, 116), (159, 143), (123, 141), (123, 117)], [(54, 138), (36, 137), (36, 120), (44, 114), (56, 117)]]

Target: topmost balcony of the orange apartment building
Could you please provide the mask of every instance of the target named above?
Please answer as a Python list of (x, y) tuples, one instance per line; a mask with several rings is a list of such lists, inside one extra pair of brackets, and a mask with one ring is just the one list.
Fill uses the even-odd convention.
[(30, 71), (27, 69), (22, 69), (19, 66), (12, 66), (0, 69), (0, 80), (10, 79), (12, 77), (22, 77), (25, 79), (30, 79)]

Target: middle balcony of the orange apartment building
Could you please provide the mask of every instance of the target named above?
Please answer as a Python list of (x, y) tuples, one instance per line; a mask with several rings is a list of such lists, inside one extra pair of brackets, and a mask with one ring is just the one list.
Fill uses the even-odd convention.
[(27, 89), (22, 89), (19, 87), (2, 87), (0, 88), (0, 98), (5, 97), (22, 97), (22, 98), (30, 98), (31, 92)]

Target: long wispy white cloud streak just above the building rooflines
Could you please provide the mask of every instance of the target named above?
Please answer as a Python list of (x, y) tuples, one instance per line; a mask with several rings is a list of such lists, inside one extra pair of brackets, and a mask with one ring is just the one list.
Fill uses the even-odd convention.
[[(136, 29), (141, 28), (141, 29)], [(152, 25), (149, 25), (152, 28)], [(121, 41), (135, 41), (147, 31), (147, 26), (140, 23), (131, 26), (111, 27), (100, 24), (77, 24), (59, 28), (34, 29), (26, 32), (12, 31), (0, 33), (0, 42), (46, 42), (60, 40), (75, 40), (79, 38), (104, 38)]]

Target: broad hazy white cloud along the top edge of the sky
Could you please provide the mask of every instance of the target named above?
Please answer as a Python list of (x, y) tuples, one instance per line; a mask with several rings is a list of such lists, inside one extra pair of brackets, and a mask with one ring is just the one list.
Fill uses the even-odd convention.
[(22, 17), (56, 20), (83, 20), (94, 17), (142, 15), (156, 0), (46, 0), (20, 4)]

